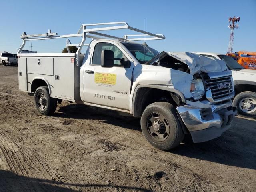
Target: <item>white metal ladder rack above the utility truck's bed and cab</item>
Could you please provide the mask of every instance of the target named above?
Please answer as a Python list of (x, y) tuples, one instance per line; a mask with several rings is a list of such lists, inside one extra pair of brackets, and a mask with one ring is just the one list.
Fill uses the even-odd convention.
[[(107, 25), (107, 26), (106, 26)], [(98, 28), (88, 28), (88, 26), (101, 26)], [(141, 34), (135, 35), (124, 35), (123, 38), (112, 36), (108, 34), (100, 33), (100, 31), (109, 31), (109, 30), (118, 30), (118, 29), (129, 29), (132, 31), (139, 32)], [(116, 40), (124, 40), (124, 41), (141, 41), (141, 40), (161, 40), (165, 39), (165, 36), (162, 34), (154, 34), (144, 30), (140, 30), (134, 27), (129, 26), (126, 22), (109, 22), (109, 23), (93, 23), (93, 24), (82, 24), (76, 34), (68, 34), (68, 35), (58, 35), (58, 33), (52, 33), (51, 30), (48, 30), (48, 33), (45, 34), (35, 34), (35, 35), (27, 35), (25, 32), (20, 36), (23, 40), (22, 45), (18, 49), (18, 54), (22, 52), (26, 41), (32, 40), (48, 40), (48, 39), (57, 39), (57, 38), (70, 38), (70, 37), (82, 37), (82, 40), (79, 44), (72, 44), (69, 39), (66, 41), (66, 47), (69, 52), (69, 46), (77, 46), (78, 50), (76, 52), (76, 65), (79, 64), (79, 54), (82, 50), (83, 46), (88, 46), (89, 44), (85, 44), (86, 38), (92, 39), (103, 39), (102, 37), (116, 39)], [(134, 37), (134, 38), (128, 38)], [(144, 37), (144, 38), (143, 38)]]

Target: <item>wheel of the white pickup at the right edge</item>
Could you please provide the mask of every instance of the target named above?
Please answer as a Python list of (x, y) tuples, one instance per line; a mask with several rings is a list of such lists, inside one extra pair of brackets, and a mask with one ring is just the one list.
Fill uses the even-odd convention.
[[(245, 108), (245, 102), (249, 102), (250, 108)], [(239, 116), (256, 118), (256, 92), (245, 91), (238, 94), (233, 100), (233, 106), (237, 108)]]

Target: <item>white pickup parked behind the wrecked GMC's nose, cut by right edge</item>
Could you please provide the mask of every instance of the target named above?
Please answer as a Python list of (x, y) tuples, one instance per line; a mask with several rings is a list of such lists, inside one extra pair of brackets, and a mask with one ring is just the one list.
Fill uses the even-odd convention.
[(197, 52), (202, 56), (223, 60), (232, 71), (235, 88), (233, 105), (237, 107), (238, 115), (256, 118), (256, 70), (244, 69), (232, 57), (208, 52)]

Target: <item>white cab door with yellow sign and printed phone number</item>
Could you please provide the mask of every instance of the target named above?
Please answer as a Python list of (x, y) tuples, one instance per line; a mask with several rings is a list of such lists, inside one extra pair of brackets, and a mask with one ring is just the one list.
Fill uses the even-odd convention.
[[(113, 67), (101, 66), (102, 50), (114, 52), (114, 58), (130, 60), (129, 67), (121, 66), (120, 60)], [(129, 98), (134, 62), (118, 44), (98, 42), (94, 46), (90, 64), (84, 68), (84, 100), (88, 104), (98, 104), (122, 110), (129, 110)]]

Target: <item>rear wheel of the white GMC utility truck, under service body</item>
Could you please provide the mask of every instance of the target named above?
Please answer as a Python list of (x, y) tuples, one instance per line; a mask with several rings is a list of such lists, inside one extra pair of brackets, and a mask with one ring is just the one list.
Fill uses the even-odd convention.
[(57, 100), (51, 98), (47, 86), (38, 87), (34, 94), (36, 110), (43, 115), (52, 115), (57, 108)]

